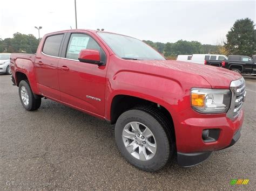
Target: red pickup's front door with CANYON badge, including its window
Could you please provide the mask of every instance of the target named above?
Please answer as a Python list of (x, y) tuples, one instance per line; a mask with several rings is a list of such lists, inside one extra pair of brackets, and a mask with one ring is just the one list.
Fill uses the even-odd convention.
[(104, 116), (106, 65), (80, 62), (78, 54), (81, 49), (99, 51), (101, 61), (106, 63), (106, 51), (91, 34), (69, 33), (58, 65), (60, 99), (77, 108)]

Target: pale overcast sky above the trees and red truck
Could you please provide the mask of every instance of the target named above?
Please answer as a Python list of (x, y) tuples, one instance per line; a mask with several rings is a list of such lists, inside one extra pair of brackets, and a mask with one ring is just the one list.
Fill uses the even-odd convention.
[[(3, 0), (0, 38), (15, 32), (41, 37), (75, 29), (75, 0)], [(225, 39), (235, 20), (255, 22), (256, 1), (145, 1), (76, 0), (78, 29), (105, 29), (140, 40), (175, 43), (196, 40), (217, 44)]]

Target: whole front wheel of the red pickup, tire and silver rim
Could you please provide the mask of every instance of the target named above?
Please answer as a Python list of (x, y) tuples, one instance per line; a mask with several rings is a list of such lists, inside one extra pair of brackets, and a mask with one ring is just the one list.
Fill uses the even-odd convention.
[(144, 171), (164, 167), (174, 151), (174, 140), (163, 115), (153, 108), (134, 108), (117, 119), (115, 138), (130, 164)]

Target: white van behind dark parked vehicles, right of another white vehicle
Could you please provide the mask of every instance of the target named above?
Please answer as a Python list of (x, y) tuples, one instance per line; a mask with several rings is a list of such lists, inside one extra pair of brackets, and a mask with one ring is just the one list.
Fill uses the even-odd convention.
[(204, 64), (205, 60), (227, 60), (227, 56), (220, 54), (193, 54), (190, 62)]

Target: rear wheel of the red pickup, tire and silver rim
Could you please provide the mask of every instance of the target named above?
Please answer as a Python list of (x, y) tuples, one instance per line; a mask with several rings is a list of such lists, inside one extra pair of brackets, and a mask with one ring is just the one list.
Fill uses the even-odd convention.
[(28, 111), (33, 111), (41, 106), (41, 98), (35, 98), (30, 88), (28, 80), (19, 83), (19, 98), (23, 107)]

